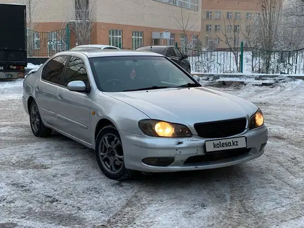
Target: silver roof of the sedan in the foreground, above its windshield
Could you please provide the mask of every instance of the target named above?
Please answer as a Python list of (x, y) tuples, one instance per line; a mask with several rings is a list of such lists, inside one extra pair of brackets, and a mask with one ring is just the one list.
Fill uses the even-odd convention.
[(73, 55), (73, 53), (80, 53), (86, 55), (88, 58), (94, 57), (115, 57), (115, 56), (160, 56), (158, 53), (151, 53), (149, 51), (136, 51), (136, 50), (120, 50), (120, 49), (90, 49), (90, 50), (67, 50), (61, 53), (57, 53), (58, 55)]

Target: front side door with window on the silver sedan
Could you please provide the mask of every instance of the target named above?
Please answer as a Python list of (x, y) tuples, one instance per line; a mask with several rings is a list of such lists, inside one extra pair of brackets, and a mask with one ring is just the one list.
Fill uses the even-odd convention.
[[(86, 92), (69, 91), (69, 82), (82, 81), (86, 84)], [(91, 93), (90, 82), (84, 60), (71, 56), (66, 66), (63, 86), (57, 90), (57, 117), (62, 131), (77, 137), (79, 140), (91, 143), (90, 115)]]

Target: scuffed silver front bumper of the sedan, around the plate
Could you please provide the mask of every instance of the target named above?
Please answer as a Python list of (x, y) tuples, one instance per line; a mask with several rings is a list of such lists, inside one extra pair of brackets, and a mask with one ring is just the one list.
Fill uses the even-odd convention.
[[(259, 129), (248, 130), (240, 135), (235, 135), (234, 137), (246, 137), (247, 151), (245, 153), (234, 155), (233, 157), (229, 157), (228, 155), (224, 159), (207, 161), (204, 159), (207, 157), (205, 139), (196, 135), (193, 135), (191, 138), (181, 139), (155, 138), (120, 131), (120, 136), (122, 137), (126, 169), (157, 173), (215, 169), (248, 162), (263, 155), (264, 146), (268, 140), (268, 130), (266, 126), (262, 126)], [(152, 166), (142, 162), (145, 158), (165, 157), (173, 157), (174, 162), (167, 167)], [(196, 158), (202, 158), (204, 161), (196, 160)]]

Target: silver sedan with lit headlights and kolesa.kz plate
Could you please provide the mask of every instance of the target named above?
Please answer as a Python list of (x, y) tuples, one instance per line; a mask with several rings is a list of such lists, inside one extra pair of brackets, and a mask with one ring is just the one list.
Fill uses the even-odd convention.
[(95, 149), (115, 180), (240, 164), (267, 143), (256, 105), (203, 87), (151, 52), (58, 53), (24, 79), (22, 99), (34, 135), (57, 131)]

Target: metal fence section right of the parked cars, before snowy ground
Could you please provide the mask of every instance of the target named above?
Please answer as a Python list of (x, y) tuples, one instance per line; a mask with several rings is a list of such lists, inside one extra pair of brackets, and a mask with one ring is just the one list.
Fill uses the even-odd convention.
[[(265, 73), (304, 74), (304, 49), (267, 51), (246, 50), (188, 50), (191, 69), (197, 73)], [(243, 61), (242, 54), (243, 53)], [(243, 67), (241, 63), (243, 62)], [(243, 69), (243, 70), (242, 70)]]

